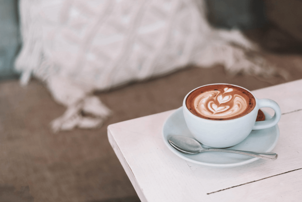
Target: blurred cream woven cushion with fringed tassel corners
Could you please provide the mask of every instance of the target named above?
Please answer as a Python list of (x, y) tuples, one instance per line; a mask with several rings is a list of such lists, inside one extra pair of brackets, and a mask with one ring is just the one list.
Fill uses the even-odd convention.
[(188, 64), (254, 73), (266, 65), (246, 57), (255, 47), (240, 31), (211, 28), (201, 0), (20, 0), (19, 8), (23, 47), (15, 69), (21, 84), (37, 77), (67, 107), (54, 131), (102, 124), (110, 110), (94, 90)]

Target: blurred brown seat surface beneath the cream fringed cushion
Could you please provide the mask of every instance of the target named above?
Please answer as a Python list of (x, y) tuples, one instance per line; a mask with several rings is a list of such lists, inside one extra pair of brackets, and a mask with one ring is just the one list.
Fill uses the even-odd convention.
[[(56, 134), (49, 123), (65, 108), (53, 101), (41, 82), (32, 80), (21, 87), (18, 80), (2, 81), (0, 201), (15, 201), (10, 193), (19, 201), (140, 201), (108, 142), (107, 126), (176, 109), (190, 90), (208, 83), (232, 83), (255, 90), (302, 79), (301, 56), (265, 57), (286, 70), (288, 80), (280, 75), (230, 75), (219, 65), (188, 67), (165, 77), (96, 93), (113, 111), (104, 125)], [(27, 190), (27, 194), (20, 194), (20, 190)]]

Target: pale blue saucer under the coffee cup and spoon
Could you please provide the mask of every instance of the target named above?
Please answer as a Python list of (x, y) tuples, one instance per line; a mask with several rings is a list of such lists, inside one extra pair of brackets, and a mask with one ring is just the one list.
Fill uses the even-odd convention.
[[(263, 110), (262, 110), (263, 111)], [(264, 112), (265, 119), (271, 119), (271, 116)], [(208, 151), (199, 154), (186, 154), (176, 150), (168, 142), (169, 135), (184, 135), (194, 138), (189, 131), (185, 119), (182, 113), (182, 107), (173, 112), (165, 121), (162, 129), (163, 140), (165, 145), (180, 158), (185, 159), (193, 163), (215, 166), (215, 167), (235, 167), (246, 165), (259, 158), (250, 157), (246, 155)], [(276, 146), (279, 138), (279, 127), (274, 127), (262, 130), (253, 130), (249, 136), (240, 142), (238, 145), (229, 147), (230, 149), (245, 150), (245, 151), (258, 151), (258, 152), (270, 152)], [(202, 145), (203, 147), (207, 147)], [(208, 147), (207, 147), (208, 148)]]

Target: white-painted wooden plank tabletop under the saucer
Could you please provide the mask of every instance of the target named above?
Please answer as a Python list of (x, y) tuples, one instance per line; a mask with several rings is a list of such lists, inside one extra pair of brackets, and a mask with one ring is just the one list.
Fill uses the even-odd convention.
[(109, 142), (140, 200), (302, 201), (302, 80), (252, 93), (281, 108), (274, 161), (219, 168), (180, 158), (162, 138), (163, 124), (176, 109), (109, 125)]

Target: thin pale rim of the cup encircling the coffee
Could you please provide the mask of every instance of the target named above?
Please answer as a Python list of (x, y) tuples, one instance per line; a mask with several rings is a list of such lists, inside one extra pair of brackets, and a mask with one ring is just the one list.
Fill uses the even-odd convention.
[[(256, 106), (258, 105), (258, 99), (255, 97), (255, 95), (254, 95), (250, 90), (247, 90), (249, 93), (252, 94), (252, 96), (254, 96), (255, 101), (256, 101), (256, 104), (255, 104), (254, 109), (253, 109), (252, 111), (250, 111), (249, 113), (247, 113), (246, 115), (240, 116), (240, 117), (235, 118), (235, 119), (229, 119), (229, 120), (212, 120), (212, 119), (204, 119), (204, 118), (202, 118), (202, 117), (196, 116), (195, 114), (193, 114), (192, 112), (190, 112), (190, 110), (188, 109), (188, 107), (187, 107), (187, 105), (186, 105), (186, 99), (187, 99), (188, 95), (189, 95), (190, 93), (192, 93), (194, 90), (196, 90), (196, 89), (198, 89), (198, 88), (201, 88), (201, 87), (204, 87), (204, 86), (211, 86), (211, 85), (232, 85), (232, 86), (237, 86), (237, 87), (239, 87), (239, 88), (242, 88), (242, 89), (244, 89), (244, 90), (247, 90), (246, 88), (244, 88), (244, 87), (242, 87), (242, 86), (238, 86), (238, 85), (230, 84), (230, 83), (210, 83), (210, 84), (206, 84), (206, 85), (203, 85), (203, 86), (199, 86), (199, 87), (197, 87), (197, 88), (194, 88), (193, 90), (191, 90), (191, 91), (185, 96), (185, 98), (183, 99), (183, 102), (182, 102), (182, 106), (183, 106), (183, 108), (184, 108), (187, 112), (189, 112), (191, 115), (193, 115), (194, 117), (196, 117), (196, 118), (198, 118), (198, 119), (206, 120), (206, 121), (208, 121), (208, 122), (216, 122), (216, 121), (219, 121), (219, 122), (233, 122), (233, 121), (236, 121), (236, 120), (238, 120), (238, 119), (240, 119), (240, 118), (243, 118), (243, 117), (249, 115), (251, 112), (253, 112), (253, 111), (256, 109)], [(257, 111), (258, 111), (258, 110), (257, 110)]]

